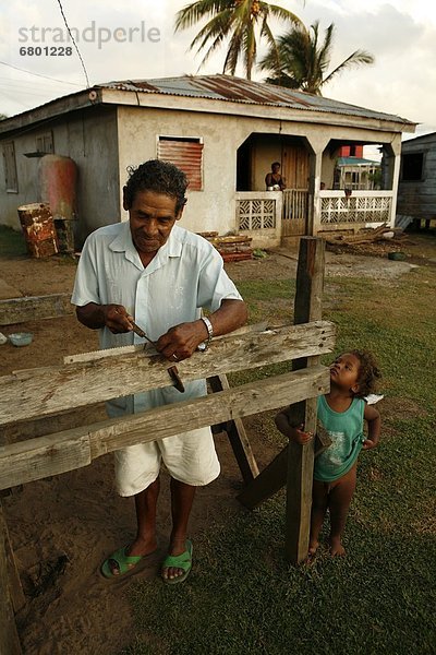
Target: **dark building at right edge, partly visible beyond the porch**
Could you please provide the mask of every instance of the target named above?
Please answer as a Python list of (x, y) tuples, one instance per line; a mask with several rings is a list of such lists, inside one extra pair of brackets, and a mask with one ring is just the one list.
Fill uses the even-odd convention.
[[(404, 141), (401, 146), (397, 218), (419, 227), (436, 218), (436, 132)], [(402, 218), (402, 222), (404, 221)]]

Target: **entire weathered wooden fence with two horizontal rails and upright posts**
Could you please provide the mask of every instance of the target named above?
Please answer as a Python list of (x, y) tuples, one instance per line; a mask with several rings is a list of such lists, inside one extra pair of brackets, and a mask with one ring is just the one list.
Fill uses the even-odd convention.
[[(329, 389), (329, 370), (319, 365), (319, 357), (331, 353), (335, 346), (334, 324), (315, 320), (320, 319), (323, 275), (323, 241), (303, 238), (295, 297), (295, 322), (300, 324), (239, 331), (214, 340), (206, 353), (196, 353), (178, 364), (183, 382), (210, 380), (215, 391), (205, 397), (16, 443), (7, 443), (3, 433), (0, 436), (0, 489), (87, 466), (96, 457), (126, 445), (170, 437), (180, 431), (181, 425), (184, 430), (191, 430), (231, 421), (237, 432), (233, 438), (240, 441), (232, 444), (235, 454), (239, 452), (241, 456), (240, 460), (237, 454), (238, 463), (245, 481), (252, 480), (246, 487), (246, 498), (258, 502), (282, 486), (288, 475), (286, 553), (289, 561), (298, 563), (304, 551), (307, 552), (313, 442), (305, 446), (292, 444), (295, 446), (292, 457), (289, 457), (291, 449), (284, 449), (257, 476), (257, 467), (250, 461), (250, 443), (238, 436), (235, 426), (245, 416), (301, 403), (303, 420), (314, 428), (316, 397)], [(295, 361), (294, 370), (284, 374), (270, 374), (233, 388), (227, 383), (228, 372), (291, 360)], [(13, 372), (0, 378), (0, 426), (28, 425), (73, 408), (168, 386), (168, 367), (169, 362), (160, 356), (132, 347), (129, 353), (114, 349), (72, 356), (62, 366)], [(244, 465), (241, 464), (243, 457)], [(269, 475), (271, 471), (279, 472), (279, 486), (275, 476)], [(293, 525), (295, 522), (298, 525)], [(0, 618), (0, 655), (19, 655), (19, 638), (10, 619), (13, 610), (17, 610), (14, 598), (19, 596), (11, 593), (11, 588), (19, 584), (19, 575), (15, 571), (14, 582), (7, 572), (8, 549), (11, 550), (7, 526), (0, 521), (0, 617), (3, 618)]]

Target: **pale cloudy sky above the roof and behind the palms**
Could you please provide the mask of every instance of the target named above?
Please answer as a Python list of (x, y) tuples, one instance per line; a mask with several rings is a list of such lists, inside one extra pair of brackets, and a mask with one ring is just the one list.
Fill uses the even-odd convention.
[[(187, 0), (0, 0), (0, 114), (13, 116), (88, 85), (222, 72), (226, 48), (199, 69), (189, 46), (199, 26), (174, 34)], [(274, 0), (320, 34), (335, 24), (331, 66), (356, 49), (373, 66), (344, 71), (326, 97), (395, 114), (436, 131), (436, 3), (431, 0)], [(75, 37), (69, 39), (61, 8)], [(286, 28), (271, 23), (275, 35)], [(71, 49), (66, 49), (71, 48)], [(261, 48), (259, 55), (264, 52)], [(243, 76), (243, 70), (237, 71)], [(262, 81), (265, 73), (255, 72)]]

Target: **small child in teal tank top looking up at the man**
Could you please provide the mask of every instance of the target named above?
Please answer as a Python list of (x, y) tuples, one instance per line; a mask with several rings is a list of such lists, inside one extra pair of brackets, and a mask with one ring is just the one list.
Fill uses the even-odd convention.
[[(331, 444), (315, 456), (308, 555), (319, 546), (318, 536), (327, 509), (330, 513), (330, 552), (344, 555), (341, 537), (355, 489), (360, 451), (375, 448), (380, 433), (380, 415), (364, 396), (374, 392), (380, 372), (373, 356), (364, 350), (340, 355), (330, 367), (330, 391), (318, 397), (318, 431), (327, 431)], [(363, 421), (367, 421), (367, 438)], [(300, 444), (313, 434), (292, 425), (292, 405), (276, 416), (276, 426)]]

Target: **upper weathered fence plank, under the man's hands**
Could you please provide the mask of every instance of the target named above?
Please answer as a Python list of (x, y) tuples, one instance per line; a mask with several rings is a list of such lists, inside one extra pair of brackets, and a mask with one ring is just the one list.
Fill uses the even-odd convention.
[[(330, 353), (335, 325), (320, 321), (227, 335), (178, 364), (183, 382)], [(173, 362), (172, 362), (173, 364)], [(143, 350), (96, 361), (16, 371), (0, 378), (0, 425), (168, 386), (170, 362)]]

